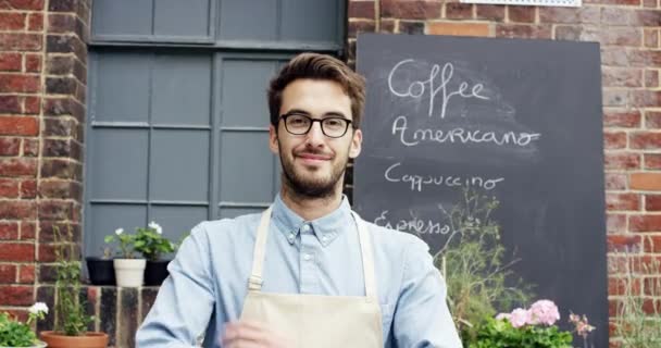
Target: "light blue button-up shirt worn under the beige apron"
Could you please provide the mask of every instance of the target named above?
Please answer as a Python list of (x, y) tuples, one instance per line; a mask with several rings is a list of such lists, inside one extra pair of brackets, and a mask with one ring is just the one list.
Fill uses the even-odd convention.
[[(221, 347), (248, 291), (260, 214), (202, 222), (170, 263), (170, 276), (138, 330), (139, 348)], [(446, 286), (420, 238), (369, 223), (386, 347), (459, 348)], [(364, 296), (357, 225), (347, 198), (303, 221), (280, 197), (273, 204), (263, 291)]]

